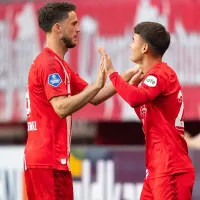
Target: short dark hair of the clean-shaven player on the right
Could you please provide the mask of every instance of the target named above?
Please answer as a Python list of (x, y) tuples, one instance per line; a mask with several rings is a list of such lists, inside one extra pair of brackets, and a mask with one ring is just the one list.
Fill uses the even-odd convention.
[(142, 22), (134, 27), (134, 33), (139, 34), (156, 55), (163, 56), (170, 45), (170, 34), (162, 24)]

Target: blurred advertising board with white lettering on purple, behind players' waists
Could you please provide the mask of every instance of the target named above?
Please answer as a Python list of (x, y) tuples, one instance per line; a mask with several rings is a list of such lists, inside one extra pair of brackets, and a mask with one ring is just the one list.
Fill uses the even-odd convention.
[[(24, 147), (0, 147), (0, 199), (27, 200), (23, 179)], [(200, 197), (199, 151), (192, 200)], [(75, 200), (139, 200), (145, 177), (143, 147), (73, 147), (71, 171)]]

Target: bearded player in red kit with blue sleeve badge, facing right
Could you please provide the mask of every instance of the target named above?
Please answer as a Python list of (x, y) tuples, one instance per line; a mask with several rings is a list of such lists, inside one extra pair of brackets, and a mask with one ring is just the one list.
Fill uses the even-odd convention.
[[(24, 164), (29, 200), (73, 200), (71, 115), (87, 103), (97, 105), (116, 93), (112, 83), (105, 84), (101, 64), (96, 82), (88, 85), (64, 61), (80, 31), (75, 10), (72, 3), (53, 2), (37, 12), (47, 47), (34, 60), (28, 77)], [(130, 69), (123, 77), (130, 80), (136, 72), (137, 68)]]

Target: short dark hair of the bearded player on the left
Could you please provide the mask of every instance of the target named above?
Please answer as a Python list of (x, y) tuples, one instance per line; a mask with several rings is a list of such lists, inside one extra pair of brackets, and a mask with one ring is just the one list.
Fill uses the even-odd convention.
[(68, 18), (68, 13), (75, 10), (71, 2), (47, 3), (37, 11), (39, 26), (45, 33), (51, 32), (54, 24)]

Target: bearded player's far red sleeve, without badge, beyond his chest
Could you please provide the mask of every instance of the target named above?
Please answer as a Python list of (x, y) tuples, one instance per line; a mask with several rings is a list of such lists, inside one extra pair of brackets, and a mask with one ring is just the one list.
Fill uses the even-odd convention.
[(71, 88), (73, 95), (75, 95), (84, 90), (88, 86), (88, 83), (75, 72), (71, 72), (71, 75)]

